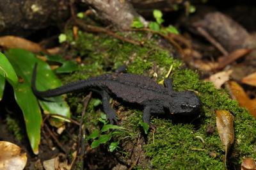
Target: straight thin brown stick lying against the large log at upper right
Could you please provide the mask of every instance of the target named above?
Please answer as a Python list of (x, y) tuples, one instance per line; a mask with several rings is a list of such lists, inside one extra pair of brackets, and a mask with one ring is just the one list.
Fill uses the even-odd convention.
[(228, 52), (227, 50), (224, 49), (224, 47), (222, 47), (222, 45), (220, 43), (218, 43), (211, 35), (209, 35), (209, 33), (207, 33), (207, 31), (205, 31), (205, 29), (203, 29), (202, 27), (196, 27), (196, 30), (202, 35), (204, 36), (204, 38), (206, 40), (208, 40), (212, 45), (214, 45), (216, 47), (216, 49), (220, 50), (220, 52), (224, 55), (227, 56)]

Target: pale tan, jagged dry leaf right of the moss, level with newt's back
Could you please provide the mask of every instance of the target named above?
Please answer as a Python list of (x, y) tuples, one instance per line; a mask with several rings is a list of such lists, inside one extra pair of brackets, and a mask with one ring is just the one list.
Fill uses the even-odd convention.
[(229, 76), (232, 72), (233, 70), (227, 70), (224, 72), (215, 73), (209, 77), (209, 81), (212, 82), (216, 88), (220, 89), (222, 84), (229, 80)]

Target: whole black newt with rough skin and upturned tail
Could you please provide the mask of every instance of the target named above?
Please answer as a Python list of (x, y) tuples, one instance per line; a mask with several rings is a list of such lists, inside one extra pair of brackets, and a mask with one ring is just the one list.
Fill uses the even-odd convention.
[(36, 89), (36, 67), (33, 68), (31, 88), (38, 98), (55, 97), (78, 90), (91, 90), (102, 97), (103, 111), (110, 123), (116, 121), (116, 112), (109, 105), (113, 97), (121, 102), (136, 104), (143, 107), (143, 121), (150, 123), (152, 113), (172, 113), (184, 116), (195, 114), (200, 109), (200, 100), (194, 91), (173, 91), (172, 80), (164, 79), (164, 86), (157, 84), (150, 77), (132, 73), (111, 73), (91, 77), (86, 80), (70, 82), (64, 86), (47, 91)]

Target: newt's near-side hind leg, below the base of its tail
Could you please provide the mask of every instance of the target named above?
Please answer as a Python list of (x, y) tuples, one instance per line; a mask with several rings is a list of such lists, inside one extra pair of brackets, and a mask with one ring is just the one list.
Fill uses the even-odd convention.
[(107, 114), (108, 120), (111, 124), (116, 122), (116, 111), (110, 106), (109, 104), (109, 95), (106, 91), (102, 91), (102, 105), (103, 105), (103, 111)]

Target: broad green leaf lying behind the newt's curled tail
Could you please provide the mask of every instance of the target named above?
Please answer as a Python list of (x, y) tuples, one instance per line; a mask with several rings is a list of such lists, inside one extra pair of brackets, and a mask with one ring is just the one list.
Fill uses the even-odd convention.
[[(20, 75), (31, 86), (31, 76), (35, 63), (38, 63), (36, 75), (36, 88), (38, 90), (47, 90), (61, 86), (61, 81), (54, 75), (47, 63), (35, 57), (35, 54), (22, 49), (11, 49), (6, 52), (8, 59), (15, 66), (17, 75)], [(25, 59), (26, 58), (26, 59)], [(46, 113), (61, 114), (70, 118), (70, 110), (67, 103), (61, 97), (50, 99), (58, 102), (40, 101), (42, 109)]]

